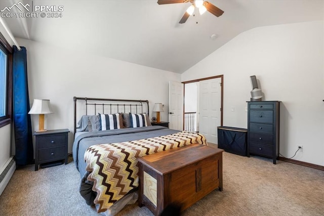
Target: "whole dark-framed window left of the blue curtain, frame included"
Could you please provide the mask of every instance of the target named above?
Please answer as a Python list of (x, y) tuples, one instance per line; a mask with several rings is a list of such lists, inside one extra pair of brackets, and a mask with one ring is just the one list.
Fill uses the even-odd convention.
[(0, 127), (12, 120), (12, 50), (0, 32)]

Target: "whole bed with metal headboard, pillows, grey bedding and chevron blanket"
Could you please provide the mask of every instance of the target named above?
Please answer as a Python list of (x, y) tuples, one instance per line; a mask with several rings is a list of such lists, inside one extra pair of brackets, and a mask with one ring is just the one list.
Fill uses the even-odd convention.
[(147, 100), (74, 97), (73, 101), (73, 160), (80, 173), (80, 194), (106, 215), (137, 200), (137, 157), (207, 144), (198, 133), (152, 126)]

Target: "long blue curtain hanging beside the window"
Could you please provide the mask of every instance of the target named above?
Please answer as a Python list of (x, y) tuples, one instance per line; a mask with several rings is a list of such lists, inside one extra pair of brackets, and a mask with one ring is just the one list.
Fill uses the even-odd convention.
[(16, 142), (16, 165), (33, 163), (33, 146), (29, 112), (26, 48), (13, 53), (13, 108)]

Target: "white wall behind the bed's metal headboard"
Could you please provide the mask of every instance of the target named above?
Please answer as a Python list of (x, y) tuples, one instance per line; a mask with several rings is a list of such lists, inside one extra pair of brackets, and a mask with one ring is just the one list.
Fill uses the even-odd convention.
[[(157, 102), (168, 110), (169, 80), (180, 81), (177, 73), (89, 55), (86, 50), (64, 50), (21, 38), (17, 41), (27, 49), (30, 106), (33, 99), (51, 100), (54, 114), (45, 116), (46, 129), (73, 132), (73, 96), (148, 100), (150, 110)], [(168, 119), (168, 112), (161, 113), (161, 118)], [(38, 116), (32, 115), (31, 120), (34, 131)], [(69, 152), (72, 142), (70, 133)]]

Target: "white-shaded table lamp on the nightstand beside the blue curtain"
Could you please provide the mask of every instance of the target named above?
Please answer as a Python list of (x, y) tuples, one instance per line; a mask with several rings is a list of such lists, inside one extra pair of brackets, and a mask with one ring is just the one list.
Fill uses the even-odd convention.
[(36, 132), (47, 131), (47, 129), (44, 129), (44, 119), (45, 119), (45, 114), (50, 114), (50, 113), (53, 113), (50, 106), (50, 100), (34, 99), (34, 102), (28, 114), (39, 114), (39, 125), (38, 125), (38, 131)]

